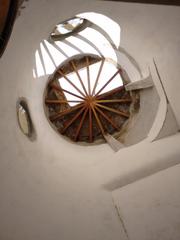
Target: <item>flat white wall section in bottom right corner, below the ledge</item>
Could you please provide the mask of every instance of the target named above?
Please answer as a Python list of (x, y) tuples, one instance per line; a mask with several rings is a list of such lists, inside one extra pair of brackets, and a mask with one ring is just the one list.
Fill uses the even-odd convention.
[(129, 239), (180, 239), (180, 165), (113, 192)]

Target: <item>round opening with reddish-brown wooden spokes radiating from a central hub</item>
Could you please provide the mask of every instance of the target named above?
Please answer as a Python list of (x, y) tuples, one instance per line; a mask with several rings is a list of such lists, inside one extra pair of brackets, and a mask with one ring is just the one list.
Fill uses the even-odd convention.
[(108, 59), (77, 55), (51, 76), (45, 93), (50, 123), (73, 141), (94, 142), (120, 132), (133, 104), (123, 70)]

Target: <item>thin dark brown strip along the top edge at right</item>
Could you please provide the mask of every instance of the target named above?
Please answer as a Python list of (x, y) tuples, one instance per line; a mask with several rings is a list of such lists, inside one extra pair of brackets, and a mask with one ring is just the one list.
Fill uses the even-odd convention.
[(179, 0), (103, 0), (112, 2), (131, 2), (131, 3), (145, 3), (145, 4), (161, 4), (161, 5), (175, 5), (180, 6)]

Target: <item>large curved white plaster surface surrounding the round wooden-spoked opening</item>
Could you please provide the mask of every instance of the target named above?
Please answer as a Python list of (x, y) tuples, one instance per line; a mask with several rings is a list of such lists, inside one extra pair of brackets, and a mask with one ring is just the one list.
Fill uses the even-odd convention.
[[(111, 194), (122, 185), (179, 163), (180, 136), (143, 142), (117, 154), (105, 145), (68, 143), (43, 111), (46, 77), (34, 79), (34, 54), (54, 25), (80, 12), (105, 14), (121, 26), (121, 46), (144, 75), (157, 59), (180, 123), (180, 8), (102, 1), (32, 0), (17, 19), (0, 62), (0, 239), (126, 239)], [(26, 97), (37, 140), (22, 135), (16, 101)], [(143, 240), (143, 239), (142, 239)]]

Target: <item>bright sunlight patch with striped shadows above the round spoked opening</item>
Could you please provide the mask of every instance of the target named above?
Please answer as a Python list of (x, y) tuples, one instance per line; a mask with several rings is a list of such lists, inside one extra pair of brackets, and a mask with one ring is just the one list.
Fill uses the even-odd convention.
[(34, 78), (52, 74), (63, 61), (79, 53), (95, 54), (117, 61), (115, 50), (111, 46), (112, 42), (107, 36), (109, 35), (111, 40), (113, 39), (113, 44), (119, 46), (119, 25), (102, 14), (83, 13), (82, 17), (91, 21), (89, 27), (87, 26), (76, 34), (72, 33), (71, 36), (61, 41), (43, 40), (40, 43), (40, 47), (35, 53)]

